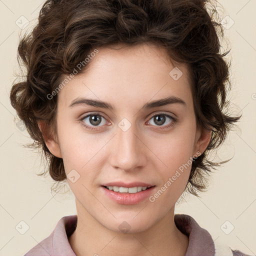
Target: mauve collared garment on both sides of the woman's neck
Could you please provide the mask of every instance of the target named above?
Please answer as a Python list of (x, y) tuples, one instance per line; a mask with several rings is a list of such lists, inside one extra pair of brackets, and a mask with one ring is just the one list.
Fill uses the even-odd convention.
[[(174, 214), (177, 228), (189, 237), (184, 256), (250, 256), (227, 245), (214, 242), (209, 232), (189, 215)], [(62, 217), (51, 234), (31, 248), (24, 256), (76, 256), (69, 242), (76, 228), (77, 215)]]

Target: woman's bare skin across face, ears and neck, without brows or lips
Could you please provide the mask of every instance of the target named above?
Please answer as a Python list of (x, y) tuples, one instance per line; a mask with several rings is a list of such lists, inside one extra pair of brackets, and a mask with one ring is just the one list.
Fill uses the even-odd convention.
[[(70, 246), (78, 256), (184, 255), (188, 237), (174, 223), (174, 206), (191, 165), (154, 202), (146, 198), (137, 204), (119, 204), (102, 193), (100, 185), (142, 181), (155, 185), (153, 195), (179, 166), (205, 150), (210, 131), (196, 127), (187, 66), (179, 64), (183, 74), (174, 80), (169, 75), (173, 61), (156, 45), (119, 44), (98, 50), (87, 69), (58, 93), (57, 134), (45, 135), (50, 152), (63, 158), (66, 174), (75, 169), (80, 175), (74, 183), (68, 179), (77, 208)], [(85, 104), (69, 107), (78, 96), (106, 101), (114, 109)], [(142, 109), (146, 102), (166, 96), (178, 97), (185, 104)], [(103, 116), (99, 125), (93, 126), (89, 117), (80, 120), (89, 113)], [(168, 114), (176, 121), (165, 116), (165, 122), (158, 124), (153, 118), (157, 114)], [(126, 131), (118, 126), (123, 118), (131, 124)], [(42, 122), (39, 126), (48, 134), (50, 127)], [(130, 226), (127, 233), (118, 228), (123, 221)]]

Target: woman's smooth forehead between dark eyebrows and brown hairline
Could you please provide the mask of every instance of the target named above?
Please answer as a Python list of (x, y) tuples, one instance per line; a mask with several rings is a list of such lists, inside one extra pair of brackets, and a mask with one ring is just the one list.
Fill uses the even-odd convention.
[(166, 49), (151, 43), (97, 49), (83, 72), (58, 93), (61, 104), (68, 106), (77, 96), (120, 103), (125, 99), (144, 103), (169, 94), (191, 99), (187, 95), (191, 94), (188, 68), (184, 63), (175, 64)]

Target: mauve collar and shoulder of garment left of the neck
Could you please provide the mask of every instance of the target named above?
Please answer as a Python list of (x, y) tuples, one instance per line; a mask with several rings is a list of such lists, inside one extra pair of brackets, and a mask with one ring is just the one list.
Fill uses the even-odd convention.
[(75, 256), (68, 236), (76, 228), (77, 216), (70, 215), (62, 217), (56, 224), (54, 230), (49, 236), (38, 242), (24, 256), (42, 256), (42, 255), (70, 255)]

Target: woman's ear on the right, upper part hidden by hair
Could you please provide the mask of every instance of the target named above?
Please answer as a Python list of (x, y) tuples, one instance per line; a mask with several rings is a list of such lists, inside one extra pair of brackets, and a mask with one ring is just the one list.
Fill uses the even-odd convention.
[(211, 137), (211, 130), (209, 129), (199, 129), (197, 128), (194, 144), (194, 154), (200, 152), (202, 154), (207, 148)]

